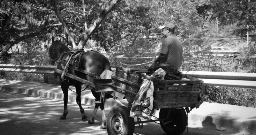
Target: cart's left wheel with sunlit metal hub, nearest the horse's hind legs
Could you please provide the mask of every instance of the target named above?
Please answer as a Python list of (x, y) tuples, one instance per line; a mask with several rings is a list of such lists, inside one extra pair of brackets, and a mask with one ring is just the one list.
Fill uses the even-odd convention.
[(107, 133), (109, 135), (133, 135), (134, 118), (125, 106), (113, 107), (107, 115)]

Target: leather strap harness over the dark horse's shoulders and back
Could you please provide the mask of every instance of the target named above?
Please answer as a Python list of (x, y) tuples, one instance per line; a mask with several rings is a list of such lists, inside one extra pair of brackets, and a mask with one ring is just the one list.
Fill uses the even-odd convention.
[(91, 73), (91, 72), (88, 72), (88, 71), (85, 71), (84, 69), (82, 69), (82, 66), (81, 66), (81, 63), (80, 63), (81, 57), (82, 57), (83, 53), (88, 52), (88, 51), (93, 51), (93, 50), (87, 50), (87, 51), (83, 51), (83, 52), (81, 52), (81, 51), (69, 51), (69, 52), (67, 52), (69, 54), (64, 60), (66, 62), (65, 66), (63, 64), (60, 65), (60, 60), (63, 58), (64, 55), (62, 55), (58, 59), (57, 69), (60, 69), (59, 66), (61, 66), (62, 69), (63, 69), (63, 72), (61, 74), (62, 81), (65, 81), (67, 79), (67, 78), (64, 78), (64, 75), (65, 75), (65, 73), (68, 72), (68, 68), (71, 68), (70, 74), (73, 74), (73, 75), (75, 75), (74, 71), (79, 71), (79, 72), (82, 72), (86, 75), (89, 75), (89, 76), (95, 77), (95, 78), (97, 76), (100, 76), (100, 74), (94, 74), (94, 73)]

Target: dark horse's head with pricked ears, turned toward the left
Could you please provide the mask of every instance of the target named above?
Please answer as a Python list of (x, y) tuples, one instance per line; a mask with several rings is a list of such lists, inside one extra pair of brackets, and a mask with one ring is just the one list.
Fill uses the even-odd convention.
[(55, 61), (57, 61), (58, 58), (60, 58), (60, 55), (64, 51), (70, 51), (68, 47), (63, 44), (62, 42), (56, 40), (54, 41), (51, 46), (49, 47), (49, 55), (50, 55), (50, 64), (54, 65)]

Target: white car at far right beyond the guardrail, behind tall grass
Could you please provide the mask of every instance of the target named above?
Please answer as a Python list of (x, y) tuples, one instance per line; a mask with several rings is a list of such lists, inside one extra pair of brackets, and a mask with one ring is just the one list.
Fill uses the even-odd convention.
[(210, 52), (213, 56), (224, 56), (227, 55), (229, 57), (237, 57), (240, 52), (237, 50), (232, 50), (228, 47), (212, 47)]

